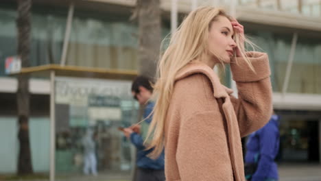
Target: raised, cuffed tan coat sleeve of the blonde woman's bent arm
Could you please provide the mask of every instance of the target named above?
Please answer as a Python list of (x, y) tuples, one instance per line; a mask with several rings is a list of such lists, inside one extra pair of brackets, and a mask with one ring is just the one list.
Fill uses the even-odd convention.
[(230, 64), (233, 80), (237, 84), (238, 99), (231, 96), (241, 137), (250, 134), (268, 123), (272, 114), (272, 86), (268, 55), (247, 52), (254, 67), (253, 72), (245, 60), (237, 58)]

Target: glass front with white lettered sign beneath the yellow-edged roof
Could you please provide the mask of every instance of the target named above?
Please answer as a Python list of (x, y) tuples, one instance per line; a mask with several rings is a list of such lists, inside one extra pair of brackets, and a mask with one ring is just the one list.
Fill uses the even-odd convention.
[(93, 132), (99, 171), (132, 169), (130, 142), (118, 127), (137, 121), (138, 104), (131, 82), (91, 78), (56, 78), (56, 171), (82, 172), (83, 140)]

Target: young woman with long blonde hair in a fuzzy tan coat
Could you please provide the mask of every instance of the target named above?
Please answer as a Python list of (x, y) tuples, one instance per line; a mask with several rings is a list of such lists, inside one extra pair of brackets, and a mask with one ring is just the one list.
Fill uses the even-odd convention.
[[(245, 180), (241, 137), (272, 114), (265, 53), (244, 50), (243, 26), (218, 8), (191, 12), (158, 65), (150, 135), (165, 146), (165, 176), (177, 180)], [(219, 82), (215, 65), (230, 64), (238, 99)]]

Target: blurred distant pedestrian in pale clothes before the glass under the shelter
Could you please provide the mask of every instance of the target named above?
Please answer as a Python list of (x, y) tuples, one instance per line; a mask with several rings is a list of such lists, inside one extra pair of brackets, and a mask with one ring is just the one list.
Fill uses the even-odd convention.
[(97, 176), (96, 145), (93, 140), (92, 130), (86, 130), (86, 135), (82, 139), (82, 145), (84, 146), (84, 174), (88, 175), (91, 173), (93, 176)]

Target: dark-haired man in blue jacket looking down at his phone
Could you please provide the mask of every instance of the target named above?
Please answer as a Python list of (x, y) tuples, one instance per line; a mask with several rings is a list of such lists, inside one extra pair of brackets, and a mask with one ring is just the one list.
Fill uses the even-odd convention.
[(132, 83), (132, 95), (134, 99), (139, 101), (139, 104), (145, 105), (143, 113), (143, 119), (145, 119), (140, 125), (134, 125), (130, 128), (125, 128), (123, 133), (137, 148), (136, 165), (138, 167), (136, 174), (136, 181), (164, 181), (164, 151), (160, 156), (153, 160), (147, 155), (152, 152), (152, 149), (145, 150), (143, 144), (147, 136), (148, 127), (152, 121), (150, 116), (154, 102), (150, 101), (152, 97), (153, 88), (150, 84), (150, 80), (147, 77), (136, 77)]

